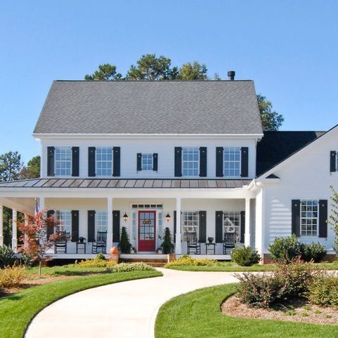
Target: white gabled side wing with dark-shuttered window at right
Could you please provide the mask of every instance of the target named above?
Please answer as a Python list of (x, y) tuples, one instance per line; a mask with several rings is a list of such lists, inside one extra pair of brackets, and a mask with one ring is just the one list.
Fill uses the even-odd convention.
[(330, 186), (338, 189), (338, 126), (256, 179), (256, 246), (268, 254), (277, 237), (320, 242), (333, 253)]

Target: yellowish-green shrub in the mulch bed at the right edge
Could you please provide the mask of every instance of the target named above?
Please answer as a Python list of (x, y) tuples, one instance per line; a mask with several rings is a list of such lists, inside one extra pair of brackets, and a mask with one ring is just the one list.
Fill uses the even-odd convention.
[(327, 273), (314, 278), (308, 286), (308, 301), (319, 306), (338, 306), (338, 277)]

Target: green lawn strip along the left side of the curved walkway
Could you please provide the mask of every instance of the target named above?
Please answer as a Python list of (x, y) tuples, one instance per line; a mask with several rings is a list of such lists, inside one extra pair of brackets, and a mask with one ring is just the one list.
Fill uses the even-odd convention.
[[(53, 271), (56, 274), (62, 271), (69, 271), (73, 274), (76, 272), (72, 268), (66, 267), (52, 268), (50, 271), (48, 268), (44, 269), (45, 274), (48, 274), (48, 272), (52, 274)], [(100, 285), (123, 282), (124, 280), (157, 277), (160, 275), (162, 273), (158, 271), (101, 273), (99, 275), (88, 275), (86, 277), (49, 282), (45, 285), (30, 287), (18, 293), (0, 298), (0, 337), (22, 338), (27, 325), (35, 314), (53, 303), (53, 301), (74, 292)]]

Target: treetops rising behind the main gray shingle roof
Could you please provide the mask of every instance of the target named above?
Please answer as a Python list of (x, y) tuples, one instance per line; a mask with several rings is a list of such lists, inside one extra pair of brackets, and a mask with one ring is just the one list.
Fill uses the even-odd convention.
[[(105, 63), (99, 65), (98, 70), (91, 75), (86, 75), (86, 80), (207, 80), (207, 66), (198, 61), (183, 63), (181, 67), (172, 66), (171, 59), (156, 54), (145, 54), (136, 61), (136, 65), (131, 65), (126, 76), (116, 72), (117, 67)], [(214, 80), (221, 80), (219, 73), (214, 74)], [(261, 94), (257, 95), (261, 123), (264, 131), (275, 131), (280, 128), (284, 118), (281, 114), (273, 110), (271, 101)]]

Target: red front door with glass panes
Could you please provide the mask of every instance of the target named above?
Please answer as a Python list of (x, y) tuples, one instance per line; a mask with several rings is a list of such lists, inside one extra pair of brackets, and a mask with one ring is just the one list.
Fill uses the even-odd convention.
[(156, 212), (138, 212), (138, 251), (155, 251)]

